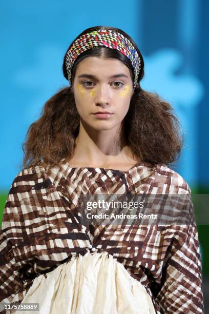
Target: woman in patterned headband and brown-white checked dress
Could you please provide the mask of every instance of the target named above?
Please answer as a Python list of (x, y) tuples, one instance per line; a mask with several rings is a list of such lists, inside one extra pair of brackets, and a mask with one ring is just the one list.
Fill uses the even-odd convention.
[[(203, 313), (190, 188), (168, 167), (181, 151), (178, 120), (141, 89), (143, 66), (117, 28), (86, 29), (68, 48), (70, 87), (30, 126), (5, 206), (2, 302), (39, 303), (40, 313)], [(84, 224), (88, 193), (186, 195), (192, 223)]]

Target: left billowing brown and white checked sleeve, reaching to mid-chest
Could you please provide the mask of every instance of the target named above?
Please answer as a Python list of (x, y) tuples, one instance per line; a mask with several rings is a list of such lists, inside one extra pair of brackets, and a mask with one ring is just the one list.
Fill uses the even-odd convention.
[(89, 246), (66, 182), (59, 167), (36, 166), (15, 178), (0, 233), (0, 302), (22, 301), (35, 277)]

